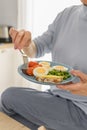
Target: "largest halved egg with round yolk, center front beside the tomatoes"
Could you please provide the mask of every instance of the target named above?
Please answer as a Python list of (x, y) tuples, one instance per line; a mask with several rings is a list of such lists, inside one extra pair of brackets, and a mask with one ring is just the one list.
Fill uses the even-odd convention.
[(45, 67), (36, 67), (36, 68), (33, 70), (33, 74), (34, 74), (34, 76), (36, 76), (36, 77), (40, 77), (40, 76), (43, 76), (43, 75), (48, 74), (48, 69), (45, 68)]

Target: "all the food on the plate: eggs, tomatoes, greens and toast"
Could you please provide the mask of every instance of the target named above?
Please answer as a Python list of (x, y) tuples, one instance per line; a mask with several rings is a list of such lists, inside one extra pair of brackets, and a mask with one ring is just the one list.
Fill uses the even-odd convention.
[(51, 66), (47, 61), (30, 61), (26, 74), (34, 76), (40, 82), (60, 83), (71, 77), (68, 68), (63, 65)]

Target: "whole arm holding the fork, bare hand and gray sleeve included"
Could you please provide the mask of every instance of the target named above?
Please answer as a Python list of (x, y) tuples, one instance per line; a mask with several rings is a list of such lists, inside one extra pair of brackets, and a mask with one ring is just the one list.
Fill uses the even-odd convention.
[(29, 57), (41, 57), (45, 53), (52, 51), (58, 32), (62, 24), (62, 15), (64, 11), (60, 12), (54, 19), (53, 23), (48, 26), (46, 32), (37, 38), (31, 39), (31, 33), (26, 30), (17, 31), (11, 28), (9, 33), (12, 37), (15, 49), (23, 49)]

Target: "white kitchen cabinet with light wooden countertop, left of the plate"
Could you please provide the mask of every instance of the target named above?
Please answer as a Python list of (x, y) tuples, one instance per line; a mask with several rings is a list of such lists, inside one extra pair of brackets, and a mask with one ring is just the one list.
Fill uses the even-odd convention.
[(41, 90), (41, 85), (35, 85), (19, 75), (18, 66), (21, 64), (23, 64), (23, 57), (18, 49), (14, 49), (13, 43), (0, 44), (0, 92), (10, 86), (31, 86)]

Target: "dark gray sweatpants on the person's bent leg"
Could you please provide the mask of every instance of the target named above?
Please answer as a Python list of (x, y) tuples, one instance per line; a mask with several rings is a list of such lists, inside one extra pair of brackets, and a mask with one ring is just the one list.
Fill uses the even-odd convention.
[(1, 96), (3, 110), (53, 130), (87, 130), (87, 115), (72, 101), (30, 88), (11, 87)]

